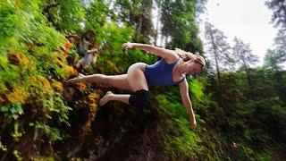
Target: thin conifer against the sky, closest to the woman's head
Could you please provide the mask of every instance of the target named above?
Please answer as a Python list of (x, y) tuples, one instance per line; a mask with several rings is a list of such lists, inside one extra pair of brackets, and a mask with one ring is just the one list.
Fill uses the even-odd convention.
[(217, 30), (211, 23), (205, 24), (206, 53), (210, 57), (211, 66), (217, 74), (219, 91), (222, 91), (221, 71), (233, 69), (233, 59), (230, 57), (230, 45), (221, 30)]

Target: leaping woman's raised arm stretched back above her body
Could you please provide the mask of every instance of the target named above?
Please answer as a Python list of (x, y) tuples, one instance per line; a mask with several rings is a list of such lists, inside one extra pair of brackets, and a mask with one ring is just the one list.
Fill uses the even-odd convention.
[(147, 44), (124, 43), (122, 45), (122, 48), (123, 49), (139, 48), (154, 55), (159, 55), (161, 57), (164, 57), (167, 63), (169, 62), (172, 63), (178, 57), (178, 55), (174, 50), (169, 50), (162, 47), (155, 47)]

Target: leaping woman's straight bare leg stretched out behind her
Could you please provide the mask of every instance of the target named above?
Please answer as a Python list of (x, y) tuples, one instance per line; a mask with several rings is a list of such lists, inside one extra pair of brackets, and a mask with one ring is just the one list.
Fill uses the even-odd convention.
[(106, 86), (114, 87), (117, 89), (131, 90), (127, 78), (128, 78), (127, 74), (122, 74), (122, 75), (92, 74), (85, 76), (80, 73), (78, 77), (68, 80), (67, 82), (70, 83), (77, 81), (97, 82), (97, 83), (103, 83)]

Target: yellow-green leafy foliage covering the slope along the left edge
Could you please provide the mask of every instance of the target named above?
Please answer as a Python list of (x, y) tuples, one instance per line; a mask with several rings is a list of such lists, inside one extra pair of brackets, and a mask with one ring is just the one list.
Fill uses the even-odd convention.
[[(58, 52), (66, 40), (49, 26), (41, 4), (34, 0), (1, 1), (0, 5), (0, 112), (4, 115), (0, 122), (2, 131), (11, 132), (14, 141), (21, 140), (21, 146), (27, 142), (23, 140), (27, 137), (21, 136), (29, 135), (28, 123), (36, 123), (35, 128), (41, 131), (29, 146), (36, 147), (43, 136), (51, 137), (48, 144), (62, 140), (58, 129), (63, 123), (69, 125), (71, 111), (49, 82), (70, 74)], [(54, 119), (57, 123), (52, 127)], [(9, 128), (13, 125), (17, 127), (14, 130)], [(13, 144), (7, 143), (7, 148), (13, 150)], [(13, 156), (21, 158), (21, 150), (14, 150)]]

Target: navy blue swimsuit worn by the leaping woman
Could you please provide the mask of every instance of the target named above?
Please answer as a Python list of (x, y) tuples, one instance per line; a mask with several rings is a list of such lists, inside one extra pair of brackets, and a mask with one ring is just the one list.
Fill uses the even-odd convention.
[(155, 64), (146, 64), (145, 77), (148, 86), (177, 85), (185, 80), (185, 77), (177, 82), (172, 80), (172, 69), (179, 59), (180, 57), (172, 64), (166, 64), (164, 58), (160, 59)]

